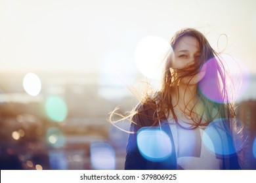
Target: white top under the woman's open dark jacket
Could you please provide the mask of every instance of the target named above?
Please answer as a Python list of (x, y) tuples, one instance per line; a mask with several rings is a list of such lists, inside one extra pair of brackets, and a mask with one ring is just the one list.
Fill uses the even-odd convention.
[[(184, 114), (178, 113), (179, 124), (189, 127), (188, 119)], [(177, 169), (221, 169), (223, 160), (217, 158), (213, 142), (207, 139), (207, 144), (203, 143), (204, 129), (185, 129), (176, 124), (173, 118), (168, 119), (177, 154)], [(186, 123), (187, 122), (187, 123)], [(212, 143), (212, 144), (211, 144)], [(209, 148), (211, 147), (211, 148)]]

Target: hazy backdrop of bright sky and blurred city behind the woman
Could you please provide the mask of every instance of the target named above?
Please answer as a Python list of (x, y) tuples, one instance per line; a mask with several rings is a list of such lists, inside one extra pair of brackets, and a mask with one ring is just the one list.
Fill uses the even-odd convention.
[(183, 27), (236, 59), (239, 101), (256, 99), (254, 0), (0, 0), (2, 169), (123, 169), (127, 133), (108, 113), (137, 104), (129, 89), (154, 78), (150, 58)]

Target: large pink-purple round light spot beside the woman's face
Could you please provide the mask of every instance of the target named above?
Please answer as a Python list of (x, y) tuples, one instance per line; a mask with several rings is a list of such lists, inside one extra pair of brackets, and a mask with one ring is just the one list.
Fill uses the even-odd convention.
[[(224, 76), (217, 73), (218, 60), (215, 58), (209, 59), (205, 63), (207, 72), (203, 80), (199, 82), (200, 92), (207, 99), (217, 103), (234, 102), (242, 97), (249, 83), (249, 73), (245, 65), (234, 58), (221, 56)], [(224, 84), (221, 80), (224, 78)]]

